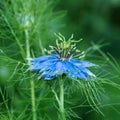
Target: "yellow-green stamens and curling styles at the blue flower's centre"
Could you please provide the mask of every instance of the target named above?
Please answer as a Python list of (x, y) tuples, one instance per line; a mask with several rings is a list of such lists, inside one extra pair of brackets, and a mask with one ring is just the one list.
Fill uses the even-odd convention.
[(51, 48), (50, 51), (48, 51), (48, 53), (52, 53), (55, 52), (57, 54), (59, 54), (60, 59), (62, 61), (64, 60), (68, 60), (72, 57), (74, 58), (81, 58), (84, 57), (84, 51), (81, 52), (80, 50), (78, 50), (76, 48), (76, 43), (80, 42), (82, 39), (80, 40), (74, 40), (73, 39), (73, 35), (71, 35), (71, 37), (66, 40), (65, 37), (63, 35), (59, 34), (55, 34), (57, 36), (58, 39), (56, 39), (56, 47), (54, 46), (49, 46)]

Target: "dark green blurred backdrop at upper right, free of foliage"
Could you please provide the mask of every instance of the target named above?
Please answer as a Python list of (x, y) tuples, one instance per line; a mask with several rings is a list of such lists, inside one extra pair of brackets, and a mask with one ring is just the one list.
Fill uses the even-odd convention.
[(120, 0), (60, 0), (56, 9), (66, 11), (61, 30), (65, 36), (105, 41), (110, 45), (104, 50), (120, 58)]

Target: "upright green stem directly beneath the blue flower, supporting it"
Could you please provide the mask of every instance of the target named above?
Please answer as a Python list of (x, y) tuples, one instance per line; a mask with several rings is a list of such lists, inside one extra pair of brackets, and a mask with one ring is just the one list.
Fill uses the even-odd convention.
[(62, 120), (66, 120), (65, 118), (65, 109), (64, 109), (64, 83), (63, 81), (60, 82), (60, 104), (59, 109), (61, 112)]

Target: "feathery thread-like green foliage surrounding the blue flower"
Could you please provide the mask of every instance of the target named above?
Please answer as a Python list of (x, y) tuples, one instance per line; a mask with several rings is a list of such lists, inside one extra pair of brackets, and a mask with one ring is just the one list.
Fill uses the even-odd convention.
[(38, 81), (39, 75), (28, 70), (26, 58), (45, 54), (44, 46), (53, 42), (53, 33), (62, 26), (59, 19), (64, 14), (55, 12), (55, 5), (54, 0), (0, 1), (0, 120), (61, 120), (58, 103), (63, 92), (63, 119), (87, 120), (96, 113), (104, 116), (109, 107), (120, 115), (120, 103), (111, 99), (120, 99), (120, 65), (101, 51), (102, 45), (92, 43), (85, 50), (84, 59), (99, 65), (92, 70), (96, 78), (65, 78), (62, 92), (59, 82)]

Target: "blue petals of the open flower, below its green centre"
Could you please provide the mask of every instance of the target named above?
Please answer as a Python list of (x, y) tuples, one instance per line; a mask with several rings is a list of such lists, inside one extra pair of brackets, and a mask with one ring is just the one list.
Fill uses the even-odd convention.
[(72, 58), (61, 60), (59, 54), (51, 54), (31, 60), (32, 62), (29, 69), (39, 72), (40, 78), (44, 78), (45, 80), (52, 80), (62, 74), (65, 74), (73, 80), (95, 77), (95, 75), (87, 69), (87, 67), (96, 66), (90, 62)]

